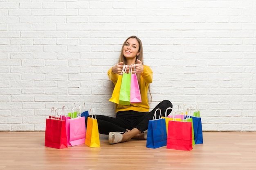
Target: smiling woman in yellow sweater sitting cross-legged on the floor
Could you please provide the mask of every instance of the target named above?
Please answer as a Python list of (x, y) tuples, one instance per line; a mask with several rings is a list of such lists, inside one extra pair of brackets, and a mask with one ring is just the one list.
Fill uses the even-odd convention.
[[(110, 144), (126, 142), (130, 139), (146, 139), (148, 121), (153, 119), (155, 110), (161, 109), (162, 114), (172, 103), (168, 100), (160, 102), (152, 111), (149, 112), (148, 92), (149, 84), (153, 81), (153, 72), (149, 66), (143, 65), (143, 49), (141, 40), (136, 36), (131, 36), (124, 41), (119, 57), (119, 62), (108, 70), (108, 77), (114, 84), (117, 83), (118, 76), (121, 74), (124, 65), (134, 65), (132, 74), (137, 74), (141, 102), (127, 105), (116, 104), (116, 117), (96, 115), (99, 133), (108, 134)], [(134, 71), (136, 70), (136, 72)], [(128, 73), (128, 69), (126, 70)], [(150, 94), (151, 96), (151, 94)], [(169, 113), (171, 109), (168, 110)], [(157, 113), (157, 118), (159, 113)], [(146, 131), (146, 132), (145, 132)]]

